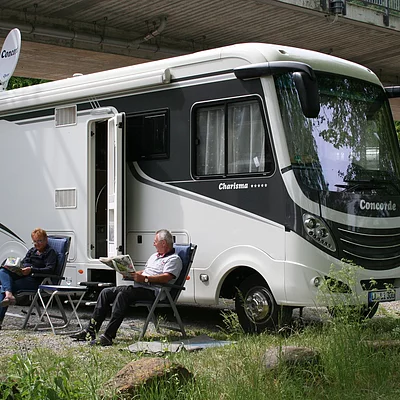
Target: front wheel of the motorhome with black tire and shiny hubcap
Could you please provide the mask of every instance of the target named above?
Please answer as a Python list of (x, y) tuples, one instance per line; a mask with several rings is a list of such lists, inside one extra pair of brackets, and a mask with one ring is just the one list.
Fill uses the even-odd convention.
[(258, 275), (247, 277), (235, 298), (239, 323), (247, 333), (277, 330), (290, 323), (292, 307), (279, 306), (270, 288)]

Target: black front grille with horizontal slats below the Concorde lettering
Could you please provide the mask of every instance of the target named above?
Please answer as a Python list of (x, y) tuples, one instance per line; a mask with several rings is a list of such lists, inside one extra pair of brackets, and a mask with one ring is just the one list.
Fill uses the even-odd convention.
[(366, 269), (384, 270), (400, 265), (400, 229), (337, 229), (340, 258)]

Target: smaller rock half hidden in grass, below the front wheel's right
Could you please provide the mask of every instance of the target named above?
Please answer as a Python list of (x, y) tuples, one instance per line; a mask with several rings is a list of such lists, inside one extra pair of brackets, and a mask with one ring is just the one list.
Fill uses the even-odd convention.
[(309, 347), (277, 346), (268, 349), (263, 356), (263, 364), (268, 370), (274, 370), (280, 365), (289, 367), (316, 365), (319, 361), (319, 353)]

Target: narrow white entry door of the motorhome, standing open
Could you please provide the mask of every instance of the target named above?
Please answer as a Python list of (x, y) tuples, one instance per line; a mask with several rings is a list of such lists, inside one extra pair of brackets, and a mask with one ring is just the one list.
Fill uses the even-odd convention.
[(108, 120), (108, 175), (107, 175), (107, 242), (108, 256), (124, 251), (124, 182), (125, 160), (123, 150), (124, 114)]

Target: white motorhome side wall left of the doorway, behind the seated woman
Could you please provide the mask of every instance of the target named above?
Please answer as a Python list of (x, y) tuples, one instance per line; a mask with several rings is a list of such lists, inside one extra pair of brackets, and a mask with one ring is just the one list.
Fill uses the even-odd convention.
[[(16, 246), (24, 257), (32, 247), (30, 232), (44, 227), (48, 234), (72, 238), (66, 274), (75, 284), (80, 265), (88, 259), (88, 115), (76, 125), (55, 128), (53, 118), (39, 118), (24, 124), (0, 121), (4, 151), (3, 182), (9, 194), (2, 200), (2, 225), (18, 232), (21, 241), (2, 230), (0, 258)], [(67, 196), (67, 197), (65, 197)], [(57, 198), (67, 203), (56, 204)], [(83, 238), (84, 240), (78, 240)], [(11, 245), (11, 243), (14, 243)], [(96, 261), (97, 263), (97, 261)], [(86, 268), (86, 267), (85, 267)]]

